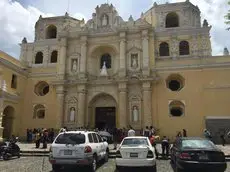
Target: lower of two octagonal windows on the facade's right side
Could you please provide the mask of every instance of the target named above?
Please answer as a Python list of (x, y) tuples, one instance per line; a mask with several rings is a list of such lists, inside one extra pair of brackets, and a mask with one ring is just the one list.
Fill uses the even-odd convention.
[(170, 115), (180, 117), (184, 115), (184, 104), (180, 101), (172, 101), (169, 105)]

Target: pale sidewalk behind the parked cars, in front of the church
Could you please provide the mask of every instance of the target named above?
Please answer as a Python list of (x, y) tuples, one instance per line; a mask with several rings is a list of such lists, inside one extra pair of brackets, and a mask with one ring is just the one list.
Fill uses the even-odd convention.
[[(40, 145), (41, 148), (37, 149), (35, 148), (35, 144), (32, 143), (18, 143), (18, 146), (21, 149), (22, 153), (48, 153), (49, 148), (51, 144), (47, 145), (47, 149), (42, 149), (42, 144)], [(222, 146), (222, 145), (217, 145), (217, 147), (222, 150), (225, 154), (226, 157), (230, 157), (230, 145)], [(111, 153), (114, 153), (115, 150), (113, 150), (113, 145), (109, 145), (109, 149)], [(157, 144), (157, 149), (161, 153), (161, 145)]]

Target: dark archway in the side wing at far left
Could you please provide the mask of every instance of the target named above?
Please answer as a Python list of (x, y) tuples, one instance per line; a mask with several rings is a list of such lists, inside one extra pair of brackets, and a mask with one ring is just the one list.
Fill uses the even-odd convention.
[(13, 129), (14, 108), (7, 106), (3, 111), (2, 127), (3, 138), (9, 139)]

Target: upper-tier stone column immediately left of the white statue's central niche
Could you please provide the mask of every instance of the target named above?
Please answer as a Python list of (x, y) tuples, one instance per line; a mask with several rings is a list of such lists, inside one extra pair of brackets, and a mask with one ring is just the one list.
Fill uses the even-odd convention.
[(87, 67), (87, 37), (81, 37), (80, 78), (86, 77)]

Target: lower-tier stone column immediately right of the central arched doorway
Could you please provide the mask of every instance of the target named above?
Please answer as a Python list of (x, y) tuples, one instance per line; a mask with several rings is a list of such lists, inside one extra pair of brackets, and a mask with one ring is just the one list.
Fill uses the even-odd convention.
[(119, 105), (118, 105), (118, 126), (127, 128), (127, 85), (119, 83)]

